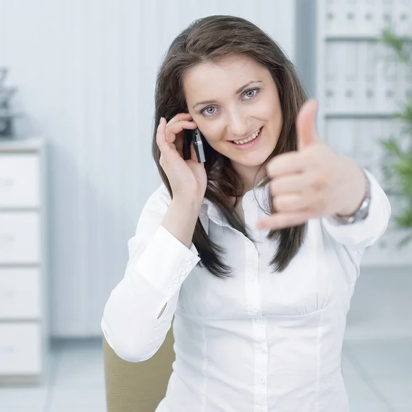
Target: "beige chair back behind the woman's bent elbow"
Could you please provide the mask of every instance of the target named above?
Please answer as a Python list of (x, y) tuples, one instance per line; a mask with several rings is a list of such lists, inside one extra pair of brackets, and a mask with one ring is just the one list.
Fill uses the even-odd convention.
[(130, 363), (103, 337), (107, 412), (154, 412), (163, 399), (174, 361), (172, 329), (152, 358)]

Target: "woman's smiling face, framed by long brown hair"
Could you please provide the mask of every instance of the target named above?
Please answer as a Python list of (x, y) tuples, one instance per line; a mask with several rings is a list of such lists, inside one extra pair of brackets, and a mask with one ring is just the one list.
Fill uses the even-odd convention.
[[(238, 56), (194, 67), (185, 73), (183, 85), (189, 112), (207, 142), (253, 186), (282, 129), (271, 73), (255, 60)], [(255, 183), (263, 177), (261, 170)]]

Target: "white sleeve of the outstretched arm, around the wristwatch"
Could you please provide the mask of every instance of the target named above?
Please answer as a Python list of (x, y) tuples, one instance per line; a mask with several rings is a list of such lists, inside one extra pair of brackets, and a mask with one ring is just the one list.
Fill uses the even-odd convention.
[(371, 202), (367, 218), (352, 225), (340, 225), (332, 218), (321, 218), (323, 227), (336, 242), (360, 251), (374, 244), (385, 233), (391, 216), (391, 205), (387, 195), (375, 177), (367, 170), (364, 171), (371, 185)]

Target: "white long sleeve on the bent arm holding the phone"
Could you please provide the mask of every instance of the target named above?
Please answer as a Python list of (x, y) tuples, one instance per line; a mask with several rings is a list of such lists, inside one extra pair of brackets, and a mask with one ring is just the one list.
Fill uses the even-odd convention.
[(181, 285), (200, 261), (194, 244), (187, 249), (161, 226), (169, 205), (161, 185), (141, 211), (128, 241), (124, 278), (104, 308), (102, 332), (126, 361), (146, 361), (157, 352), (171, 327)]

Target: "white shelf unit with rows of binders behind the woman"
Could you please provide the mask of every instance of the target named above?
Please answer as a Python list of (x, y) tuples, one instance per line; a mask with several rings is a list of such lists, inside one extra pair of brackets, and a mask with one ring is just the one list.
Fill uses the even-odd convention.
[[(317, 1), (319, 133), (340, 155), (367, 168), (385, 189), (379, 140), (401, 133), (402, 124), (393, 114), (412, 98), (412, 71), (379, 41), (388, 25), (400, 36), (412, 36), (412, 0)], [(391, 205), (396, 214), (396, 199), (391, 198)], [(382, 238), (365, 251), (363, 266), (411, 266), (412, 244), (397, 248), (403, 236), (391, 221)]]

